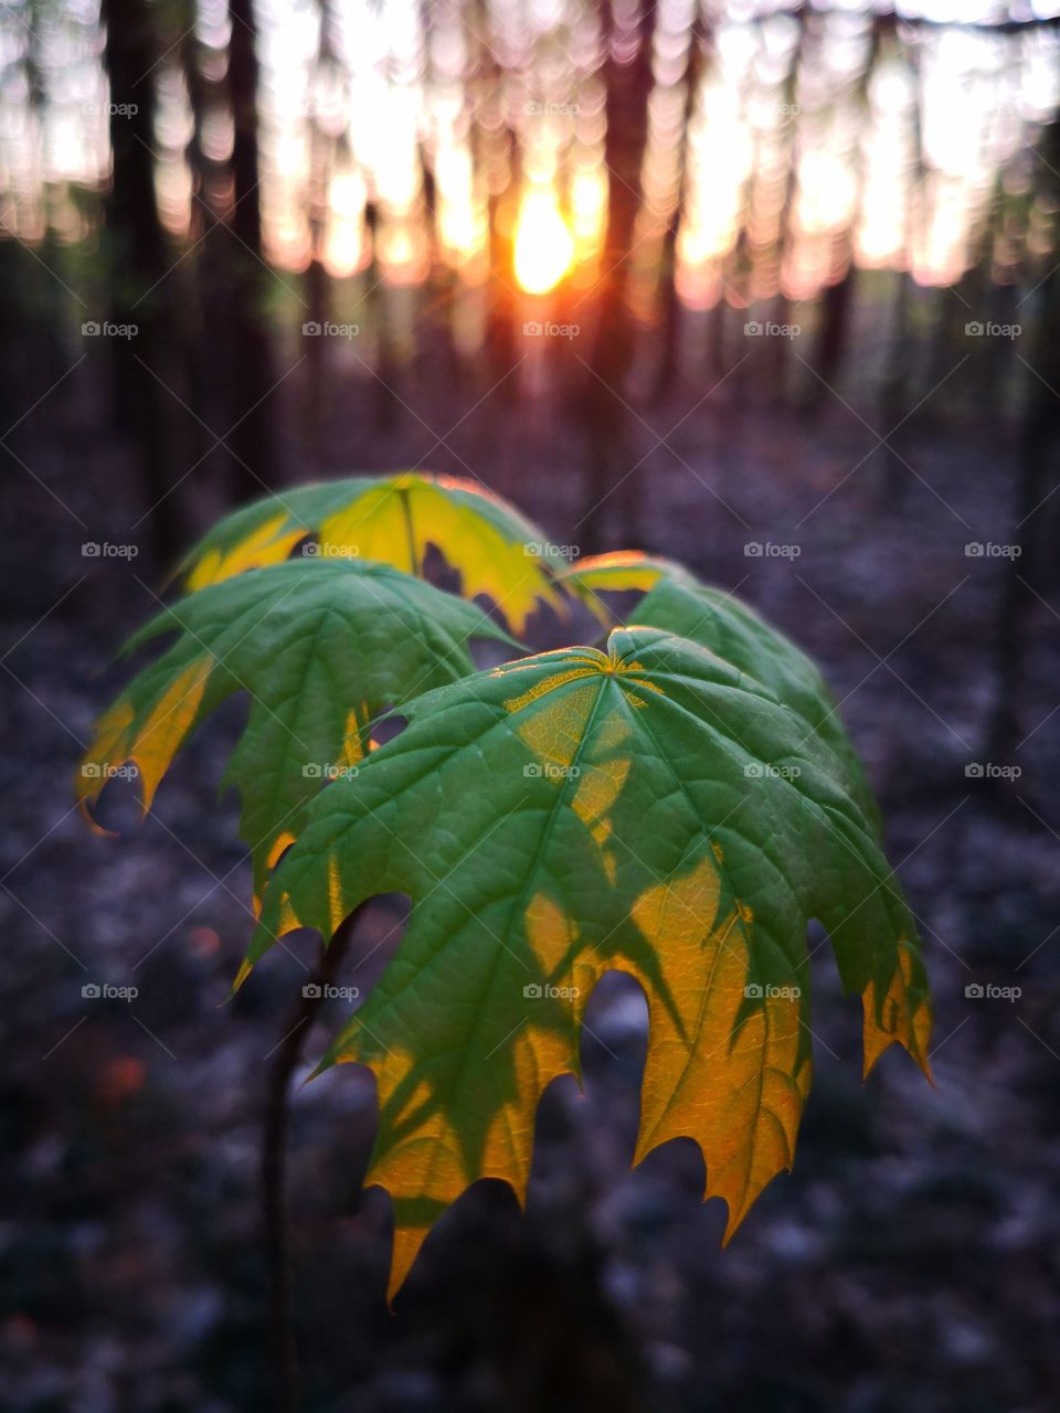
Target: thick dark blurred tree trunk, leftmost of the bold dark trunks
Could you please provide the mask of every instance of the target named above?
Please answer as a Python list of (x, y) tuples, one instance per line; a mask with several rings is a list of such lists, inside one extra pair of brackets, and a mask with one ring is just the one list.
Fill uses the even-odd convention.
[[(102, 0), (110, 78), (113, 172), (106, 211), (110, 318), (136, 325), (136, 338), (110, 341), (114, 413), (133, 434), (141, 461), (150, 537), (158, 565), (171, 564), (182, 544), (175, 486), (178, 449), (175, 380), (168, 338), (172, 264), (158, 222), (154, 192), (154, 81), (160, 57), (154, 7), (147, 0)], [(165, 384), (165, 386), (163, 386)]]

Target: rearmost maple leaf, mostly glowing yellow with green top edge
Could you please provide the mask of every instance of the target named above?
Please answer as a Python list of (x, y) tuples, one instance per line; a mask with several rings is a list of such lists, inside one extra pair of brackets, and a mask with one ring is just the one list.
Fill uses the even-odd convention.
[(548, 564), (560, 551), (500, 496), (457, 476), (351, 476), (270, 495), (226, 516), (181, 565), (189, 589), (278, 564), (308, 536), (321, 557), (348, 555), (420, 574), (428, 544), (488, 593), (522, 634), (538, 599), (560, 608)]

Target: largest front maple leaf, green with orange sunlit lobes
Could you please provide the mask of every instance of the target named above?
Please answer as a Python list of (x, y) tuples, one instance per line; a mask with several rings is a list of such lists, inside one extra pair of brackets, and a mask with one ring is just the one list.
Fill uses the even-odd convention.
[[(766, 663), (760, 663), (766, 674)], [(791, 1164), (810, 1085), (806, 928), (864, 999), (865, 1070), (927, 1070), (913, 918), (847, 764), (742, 667), (652, 627), (420, 697), (356, 779), (314, 801), (239, 981), (277, 935), (329, 937), (366, 897), (407, 933), (325, 1058), (372, 1068), (369, 1181), (393, 1197), (391, 1293), (472, 1181), (524, 1197), (534, 1111), (578, 1074), (589, 993), (618, 969), (650, 1016), (640, 1160), (690, 1136), (726, 1236)]]

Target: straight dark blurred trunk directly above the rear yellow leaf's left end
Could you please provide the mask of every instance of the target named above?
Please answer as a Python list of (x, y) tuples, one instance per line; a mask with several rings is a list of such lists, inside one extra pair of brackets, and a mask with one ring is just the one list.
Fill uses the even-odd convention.
[(257, 141), (257, 28), (252, 0), (229, 0), (228, 83), (235, 138), (230, 267), (226, 290), (232, 363), (226, 444), (237, 500), (261, 495), (276, 471), (276, 374), (267, 298), (271, 274), (261, 257), (260, 154)]

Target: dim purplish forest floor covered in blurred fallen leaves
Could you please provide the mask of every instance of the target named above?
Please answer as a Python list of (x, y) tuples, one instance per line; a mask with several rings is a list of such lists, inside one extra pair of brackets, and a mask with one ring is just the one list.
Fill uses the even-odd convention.
[[(237, 708), (192, 742), (141, 827), (93, 836), (71, 812), (81, 745), (124, 675), (107, 664), (164, 578), (146, 526), (133, 527), (143, 493), (96, 391), (75, 377), (58, 408), (27, 418), (13, 438), (25, 466), (6, 469), (17, 514), (0, 1407), (243, 1413), (267, 1406), (271, 1345), (257, 1171), (267, 1061), (304, 974), (277, 952), (220, 1005), (252, 926), (236, 803), (216, 798)], [(629, 1169), (646, 1007), (608, 978), (591, 1005), (584, 1094), (564, 1080), (541, 1106), (527, 1215), (481, 1184), (440, 1224), (390, 1314), (389, 1204), (359, 1187), (373, 1084), (331, 1071), (295, 1091), (290, 1142), (308, 1413), (1054, 1406), (1060, 617), (1046, 602), (1056, 585), (1040, 586), (1022, 625), (1025, 673), (1001, 687), (1005, 561), (965, 554), (970, 541), (1012, 541), (1011, 430), (907, 425), (906, 468), (873, 451), (865, 408), (830, 400), (810, 420), (728, 389), (695, 407), (704, 391), (685, 386), (637, 408), (643, 424), (630, 417), (628, 466), (646, 459), (603, 530), (616, 548), (639, 543), (735, 589), (820, 661), (921, 921), (936, 1088), (897, 1051), (862, 1085), (859, 1005), (821, 950), (796, 1167), (721, 1251), (724, 1208), (701, 1204), (691, 1143)], [(293, 380), (291, 400), (304, 393)], [(584, 448), (530, 401), (472, 408), (475, 396), (410, 380), (413, 411), (380, 431), (370, 390), (343, 384), (324, 451), (284, 445), (280, 482), (421, 461), (471, 469), (578, 545)], [(212, 475), (206, 463), (185, 487), (198, 517), (220, 499)], [(140, 554), (83, 558), (83, 541)], [(749, 543), (800, 552), (755, 557)], [(543, 616), (540, 642), (558, 634)], [(1002, 690), (1019, 729), (992, 764), (1022, 773), (970, 777)], [(363, 991), (379, 975), (393, 940), (373, 948), (396, 916), (387, 900), (366, 914), (343, 981)], [(103, 981), (139, 995), (82, 996)], [(967, 996), (977, 982), (1020, 995)], [(341, 1006), (325, 1012), (307, 1057), (339, 1020)]]

